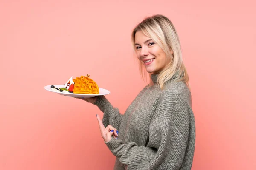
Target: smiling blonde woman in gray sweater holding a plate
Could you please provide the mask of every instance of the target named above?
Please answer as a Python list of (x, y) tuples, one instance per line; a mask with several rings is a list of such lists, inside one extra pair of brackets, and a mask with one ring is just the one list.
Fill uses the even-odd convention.
[(190, 170), (195, 119), (177, 32), (168, 18), (154, 15), (134, 28), (131, 39), (151, 83), (124, 115), (105, 96), (84, 99), (104, 113), (102, 121), (98, 115), (97, 119), (106, 145), (116, 156), (114, 169)]

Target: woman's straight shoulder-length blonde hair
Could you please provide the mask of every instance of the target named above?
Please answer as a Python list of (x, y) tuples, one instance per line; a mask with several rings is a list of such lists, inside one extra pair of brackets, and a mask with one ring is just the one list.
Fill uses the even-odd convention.
[[(132, 31), (131, 40), (134, 50), (135, 34), (137, 31), (142, 31), (146, 36), (150, 37), (165, 52), (166, 57), (170, 58), (170, 62), (158, 74), (156, 84), (160, 85), (160, 88), (163, 89), (164, 83), (171, 79), (178, 71), (179, 74), (175, 81), (185, 82), (190, 89), (189, 75), (182, 59), (180, 40), (172, 22), (163, 15), (145, 18)], [(142, 62), (140, 62), (140, 73), (143, 79), (145, 79), (147, 73)]]

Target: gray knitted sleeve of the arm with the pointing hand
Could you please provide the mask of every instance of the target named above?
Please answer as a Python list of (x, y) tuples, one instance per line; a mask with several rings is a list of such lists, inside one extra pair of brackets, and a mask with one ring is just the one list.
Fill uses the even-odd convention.
[(189, 133), (189, 95), (176, 89), (164, 95), (149, 126), (147, 146), (124, 144), (112, 138), (106, 143), (111, 152), (131, 169), (179, 170), (186, 153)]

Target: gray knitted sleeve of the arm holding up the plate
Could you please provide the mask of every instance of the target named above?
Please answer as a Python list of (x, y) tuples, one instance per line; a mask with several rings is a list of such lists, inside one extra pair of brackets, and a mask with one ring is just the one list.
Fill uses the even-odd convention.
[(105, 127), (112, 125), (119, 129), (123, 115), (119, 113), (118, 108), (114, 108), (105, 96), (99, 96), (93, 104), (104, 113), (102, 123)]

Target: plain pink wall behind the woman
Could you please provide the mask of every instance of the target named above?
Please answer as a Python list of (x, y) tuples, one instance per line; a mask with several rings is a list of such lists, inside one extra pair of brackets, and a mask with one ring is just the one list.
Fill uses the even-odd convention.
[[(91, 0), (93, 1), (93, 0)], [(256, 12), (253, 0), (0, 1), (0, 170), (112, 170), (93, 105), (44, 90), (90, 74), (124, 113), (145, 86), (130, 34), (169, 17), (192, 86), (192, 170), (255, 163)]]

